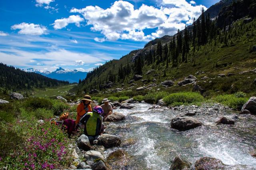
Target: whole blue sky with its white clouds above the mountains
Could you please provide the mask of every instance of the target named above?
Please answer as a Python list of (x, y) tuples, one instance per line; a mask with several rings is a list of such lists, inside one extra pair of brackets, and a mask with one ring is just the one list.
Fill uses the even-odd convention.
[(1, 0), (0, 62), (89, 71), (190, 25), (217, 0)]

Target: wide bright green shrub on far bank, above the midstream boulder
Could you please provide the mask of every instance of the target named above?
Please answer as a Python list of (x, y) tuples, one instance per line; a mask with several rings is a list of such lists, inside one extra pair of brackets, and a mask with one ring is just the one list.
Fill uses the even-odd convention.
[(204, 97), (196, 92), (178, 92), (172, 93), (166, 97), (164, 97), (164, 102), (166, 104), (174, 106), (174, 105), (183, 105), (183, 104), (193, 104), (197, 102), (203, 102)]

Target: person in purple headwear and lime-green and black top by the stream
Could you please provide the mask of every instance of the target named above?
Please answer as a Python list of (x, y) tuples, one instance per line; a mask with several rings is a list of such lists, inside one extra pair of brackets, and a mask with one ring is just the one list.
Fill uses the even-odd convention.
[(102, 107), (95, 106), (92, 112), (88, 112), (80, 120), (84, 124), (84, 134), (88, 136), (91, 143), (94, 138), (98, 138), (98, 135), (102, 135), (104, 132), (101, 114), (103, 114)]

